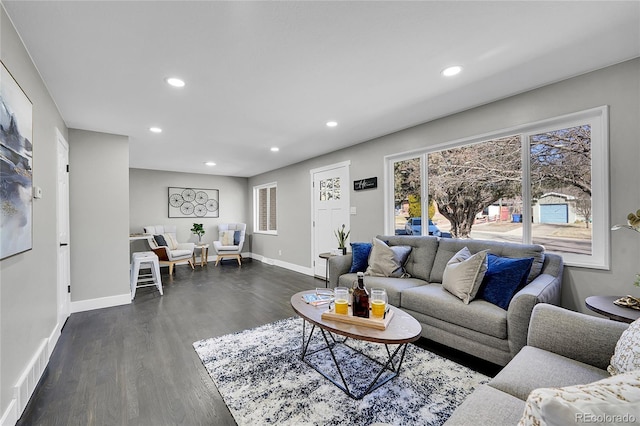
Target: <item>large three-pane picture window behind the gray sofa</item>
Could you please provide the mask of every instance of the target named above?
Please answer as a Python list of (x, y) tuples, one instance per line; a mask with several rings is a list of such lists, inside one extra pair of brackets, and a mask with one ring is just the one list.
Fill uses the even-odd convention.
[(542, 244), (607, 269), (607, 134), (601, 107), (389, 156), (387, 232)]

